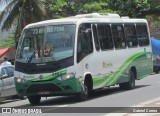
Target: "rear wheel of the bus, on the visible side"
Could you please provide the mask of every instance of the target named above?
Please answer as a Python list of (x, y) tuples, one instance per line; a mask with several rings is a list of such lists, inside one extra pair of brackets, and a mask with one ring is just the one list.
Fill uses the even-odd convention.
[(119, 84), (121, 89), (131, 90), (135, 88), (135, 73), (132, 70), (129, 73), (129, 77), (130, 79), (128, 82)]

